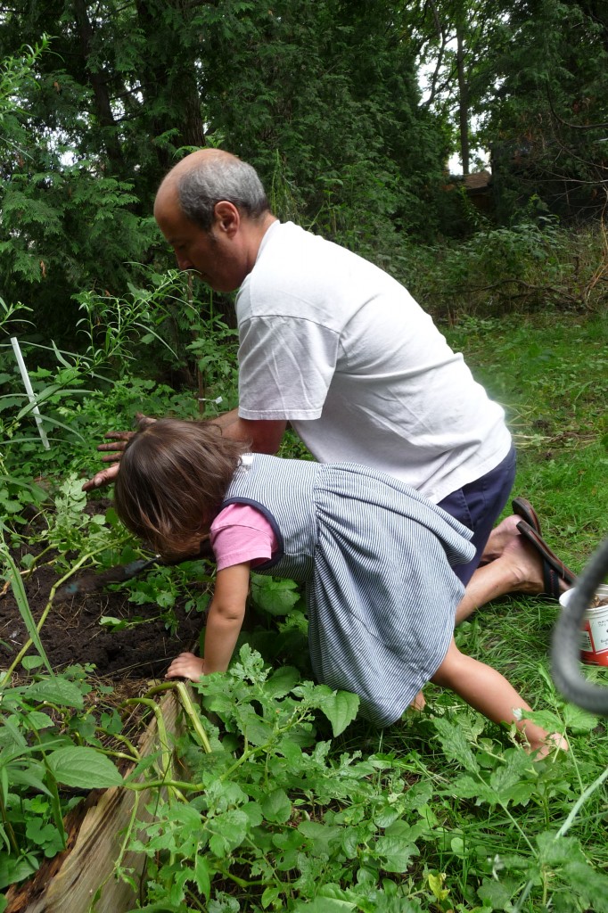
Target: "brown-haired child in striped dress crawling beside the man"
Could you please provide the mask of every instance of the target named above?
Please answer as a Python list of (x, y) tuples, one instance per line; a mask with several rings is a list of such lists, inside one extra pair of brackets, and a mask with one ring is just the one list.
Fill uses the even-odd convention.
[[(515, 719), (529, 705), (454, 642), (470, 531), (397, 479), (352, 463), (247, 454), (215, 425), (162, 419), (121, 459), (115, 499), (131, 532), (176, 558), (210, 534), (217, 561), (204, 658), (183, 653), (167, 677), (224, 672), (246, 608), (249, 571), (305, 582), (314, 673), (353, 691), (378, 726), (399, 719), (429, 680), (495, 722), (516, 721), (529, 750), (559, 737)], [(562, 747), (565, 747), (562, 745)]]

